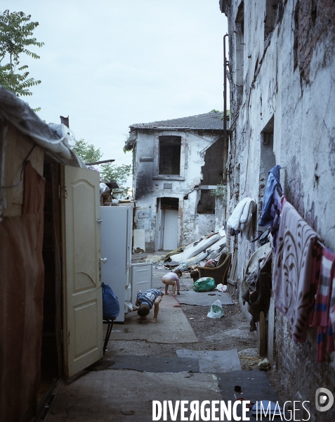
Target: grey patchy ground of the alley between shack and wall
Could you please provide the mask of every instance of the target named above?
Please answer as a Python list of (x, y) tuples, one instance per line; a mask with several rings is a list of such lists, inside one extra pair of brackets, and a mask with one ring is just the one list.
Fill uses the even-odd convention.
[[(145, 254), (133, 255), (133, 262), (143, 262), (145, 257)], [(152, 287), (163, 289), (161, 279), (168, 271), (161, 264), (153, 265)], [(188, 290), (192, 290), (192, 279), (184, 274), (180, 291)], [(150, 315), (149, 321), (139, 326), (135, 314), (125, 324), (114, 324), (105, 357), (96, 368), (58, 382), (46, 422), (185, 421), (189, 420), (192, 401), (201, 404), (204, 400), (233, 403), (236, 398), (252, 402), (277, 399), (266, 373), (258, 369), (249, 371), (257, 367), (252, 366), (258, 362), (256, 342), (249, 335), (248, 321), (234, 300), (232, 305), (223, 306), (225, 316), (221, 319), (207, 318), (208, 305), (180, 306), (178, 296), (172, 295), (163, 300), (157, 324), (150, 324)], [(241, 370), (241, 364), (247, 371)], [(238, 394), (237, 387), (240, 387)], [(164, 400), (171, 401), (165, 405), (166, 418)], [(181, 412), (184, 413), (181, 418), (178, 408), (173, 418), (175, 406), (181, 406), (180, 400), (188, 401), (187, 405), (183, 404), (188, 409)], [(242, 415), (241, 412), (242, 404), (236, 416)], [(199, 420), (222, 420), (215, 416), (220, 416), (220, 411), (210, 419), (202, 419), (200, 414)], [(251, 412), (247, 416), (256, 421)]]

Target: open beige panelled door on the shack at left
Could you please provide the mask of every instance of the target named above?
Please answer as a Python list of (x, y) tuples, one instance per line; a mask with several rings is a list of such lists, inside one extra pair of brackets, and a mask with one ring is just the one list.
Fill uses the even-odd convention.
[(99, 175), (63, 167), (65, 375), (103, 357)]

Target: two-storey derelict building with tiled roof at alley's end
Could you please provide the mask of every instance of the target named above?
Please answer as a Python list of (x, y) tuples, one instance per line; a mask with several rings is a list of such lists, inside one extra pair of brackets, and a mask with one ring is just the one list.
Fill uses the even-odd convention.
[(145, 230), (147, 251), (173, 250), (221, 227), (222, 113), (132, 124), (126, 148), (133, 150), (134, 226)]

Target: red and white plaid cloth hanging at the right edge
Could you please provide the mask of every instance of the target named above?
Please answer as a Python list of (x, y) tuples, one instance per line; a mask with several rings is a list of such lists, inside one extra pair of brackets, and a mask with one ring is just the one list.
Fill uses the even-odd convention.
[[(315, 298), (312, 325), (317, 327), (317, 362), (324, 362), (326, 341), (327, 352), (334, 352), (334, 335), (331, 325), (331, 290), (334, 283), (335, 255), (324, 248), (322, 252), (321, 277)], [(327, 338), (328, 336), (328, 338)]]

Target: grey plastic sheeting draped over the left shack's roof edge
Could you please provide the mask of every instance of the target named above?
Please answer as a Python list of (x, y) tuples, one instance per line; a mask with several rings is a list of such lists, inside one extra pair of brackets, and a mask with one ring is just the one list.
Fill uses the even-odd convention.
[(46, 124), (27, 103), (1, 86), (0, 116), (11, 122), (20, 132), (30, 136), (63, 164), (86, 168), (84, 162), (70, 148), (69, 141), (75, 142), (74, 136), (69, 134), (70, 129), (64, 124)]

